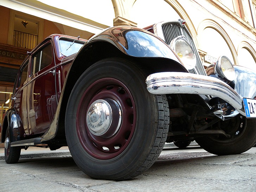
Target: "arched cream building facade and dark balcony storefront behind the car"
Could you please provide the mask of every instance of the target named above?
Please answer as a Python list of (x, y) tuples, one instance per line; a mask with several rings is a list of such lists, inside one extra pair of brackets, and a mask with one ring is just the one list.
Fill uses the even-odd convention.
[(26, 52), (53, 33), (88, 39), (111, 26), (182, 18), (205, 67), (226, 55), (256, 71), (256, 0), (1, 0), (0, 17), (1, 109)]

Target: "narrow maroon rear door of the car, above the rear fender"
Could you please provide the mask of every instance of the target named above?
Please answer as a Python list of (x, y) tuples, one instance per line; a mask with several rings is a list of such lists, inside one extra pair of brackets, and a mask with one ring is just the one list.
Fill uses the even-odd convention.
[[(26, 59), (25, 62), (21, 65), (20, 71), (17, 75), (14, 91), (12, 96), (12, 105), (16, 110), (17, 115), (20, 120), (19, 133), (20, 137), (23, 137), (24, 134), (29, 135), (28, 129), (28, 119), (27, 119), (27, 77), (28, 77), (28, 63), (29, 59)], [(17, 138), (18, 135), (14, 137)]]

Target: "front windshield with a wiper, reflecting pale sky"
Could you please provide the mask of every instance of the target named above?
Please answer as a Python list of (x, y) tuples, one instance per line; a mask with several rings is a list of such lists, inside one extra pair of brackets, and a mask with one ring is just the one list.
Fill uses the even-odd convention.
[(85, 42), (83, 41), (78, 41), (78, 40), (74, 41), (72, 39), (60, 38), (59, 39), (60, 52), (62, 53), (62, 55), (65, 55), (65, 56), (73, 55), (74, 53), (77, 53), (79, 49), (81, 49), (84, 43)]

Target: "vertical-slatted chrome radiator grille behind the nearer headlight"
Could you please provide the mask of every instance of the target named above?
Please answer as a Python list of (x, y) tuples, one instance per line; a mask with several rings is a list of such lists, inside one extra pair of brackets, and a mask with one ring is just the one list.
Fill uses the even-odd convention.
[(195, 73), (195, 74), (200, 74), (200, 75), (206, 75), (205, 70), (204, 70), (204, 66), (201, 63), (201, 59), (200, 56), (198, 54), (197, 48), (194, 44), (194, 41), (190, 35), (190, 33), (188, 32), (187, 28), (181, 27), (181, 24), (176, 21), (176, 22), (168, 22), (168, 23), (164, 23), (162, 24), (162, 33), (164, 36), (164, 40), (165, 42), (169, 45), (171, 43), (171, 41), (178, 37), (178, 36), (185, 36), (185, 38), (190, 42), (190, 44), (192, 45), (194, 52), (196, 53), (196, 66), (194, 69), (189, 70), (190, 73)]

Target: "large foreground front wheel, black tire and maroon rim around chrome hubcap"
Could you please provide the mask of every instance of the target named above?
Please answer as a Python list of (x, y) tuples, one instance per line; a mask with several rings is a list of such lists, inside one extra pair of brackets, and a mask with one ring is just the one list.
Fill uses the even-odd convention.
[[(146, 75), (133, 63), (112, 58), (92, 65), (75, 84), (66, 110), (66, 139), (74, 161), (90, 177), (136, 177), (161, 153), (169, 126), (167, 98), (149, 94), (145, 79)], [(112, 130), (118, 127), (112, 126), (117, 119), (113, 117), (107, 134), (95, 135), (85, 116), (91, 103), (109, 99), (121, 108), (120, 127)]]

